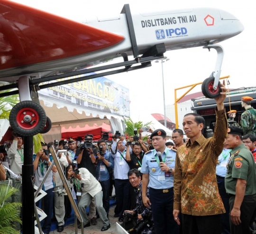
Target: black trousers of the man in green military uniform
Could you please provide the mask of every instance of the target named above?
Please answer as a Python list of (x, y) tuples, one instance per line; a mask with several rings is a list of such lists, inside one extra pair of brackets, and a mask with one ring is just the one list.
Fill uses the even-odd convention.
[[(233, 209), (236, 196), (229, 198), (230, 212)], [(240, 220), (241, 224), (234, 225), (230, 222), (231, 234), (251, 234), (250, 226), (253, 224), (253, 221), (256, 217), (256, 195), (245, 196), (240, 207), (241, 215)]]

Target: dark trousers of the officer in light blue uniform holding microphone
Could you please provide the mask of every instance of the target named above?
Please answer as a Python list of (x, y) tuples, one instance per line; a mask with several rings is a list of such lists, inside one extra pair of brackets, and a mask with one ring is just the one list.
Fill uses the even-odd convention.
[[(171, 190), (171, 189), (169, 189)], [(174, 190), (163, 193), (163, 190), (149, 189), (154, 219), (155, 234), (178, 234), (179, 225), (174, 220)]]

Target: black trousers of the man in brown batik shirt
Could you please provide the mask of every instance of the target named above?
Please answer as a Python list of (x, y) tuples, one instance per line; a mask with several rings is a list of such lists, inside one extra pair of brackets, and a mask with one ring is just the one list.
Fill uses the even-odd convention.
[(183, 234), (221, 234), (221, 215), (192, 216), (182, 214)]

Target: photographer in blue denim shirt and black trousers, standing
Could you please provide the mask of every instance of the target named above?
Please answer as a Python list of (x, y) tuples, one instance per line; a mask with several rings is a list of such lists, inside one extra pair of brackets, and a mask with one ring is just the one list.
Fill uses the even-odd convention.
[(114, 159), (111, 153), (107, 151), (107, 143), (101, 139), (97, 143), (100, 152), (97, 153), (98, 164), (96, 166), (96, 180), (101, 184), (103, 192), (103, 207), (109, 216), (110, 211), (110, 170), (114, 168)]

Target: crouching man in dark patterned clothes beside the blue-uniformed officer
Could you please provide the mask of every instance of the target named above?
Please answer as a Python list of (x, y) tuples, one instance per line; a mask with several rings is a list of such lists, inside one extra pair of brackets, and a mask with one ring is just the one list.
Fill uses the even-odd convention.
[[(138, 234), (155, 234), (154, 222), (151, 208), (144, 206), (142, 201), (142, 181), (140, 172), (137, 169), (132, 169), (128, 172), (128, 178), (131, 185), (135, 188), (137, 207), (133, 210), (125, 210), (124, 212), (124, 226), (129, 218), (137, 216), (136, 232)], [(149, 189), (147, 188), (146, 196), (149, 198)]]

